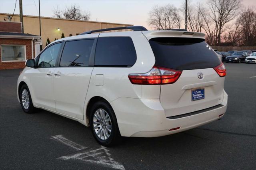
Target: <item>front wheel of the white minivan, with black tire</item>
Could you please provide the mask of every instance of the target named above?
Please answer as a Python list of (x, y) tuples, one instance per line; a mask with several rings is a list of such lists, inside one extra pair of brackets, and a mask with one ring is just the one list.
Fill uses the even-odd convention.
[(24, 112), (26, 113), (36, 112), (36, 108), (33, 106), (30, 91), (26, 84), (22, 85), (22, 87), (20, 88), (19, 97), (20, 97), (20, 104)]

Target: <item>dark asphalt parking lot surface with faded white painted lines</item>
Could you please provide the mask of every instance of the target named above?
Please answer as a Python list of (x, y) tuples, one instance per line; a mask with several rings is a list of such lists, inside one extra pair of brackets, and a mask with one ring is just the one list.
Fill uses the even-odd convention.
[(100, 146), (90, 129), (48, 111), (26, 114), (20, 70), (0, 71), (0, 169), (256, 169), (256, 65), (225, 63), (226, 115), (158, 138)]

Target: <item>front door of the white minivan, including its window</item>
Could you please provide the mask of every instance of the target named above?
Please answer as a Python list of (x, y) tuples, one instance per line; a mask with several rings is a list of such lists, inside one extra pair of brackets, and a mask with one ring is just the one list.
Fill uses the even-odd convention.
[(45, 49), (38, 59), (37, 68), (30, 75), (32, 91), (34, 93), (34, 104), (56, 110), (53, 91), (53, 77), (55, 63), (62, 43), (56, 43)]

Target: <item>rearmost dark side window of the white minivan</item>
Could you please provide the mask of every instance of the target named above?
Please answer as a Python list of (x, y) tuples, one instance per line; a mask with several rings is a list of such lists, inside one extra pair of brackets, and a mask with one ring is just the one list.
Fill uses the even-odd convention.
[(130, 37), (100, 37), (95, 52), (95, 66), (131, 67), (136, 51)]

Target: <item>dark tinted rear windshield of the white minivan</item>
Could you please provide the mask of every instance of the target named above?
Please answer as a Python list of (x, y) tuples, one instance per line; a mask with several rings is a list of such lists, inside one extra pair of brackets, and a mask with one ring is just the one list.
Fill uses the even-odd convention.
[(214, 50), (198, 38), (152, 38), (155, 65), (177, 70), (212, 68), (220, 64)]

